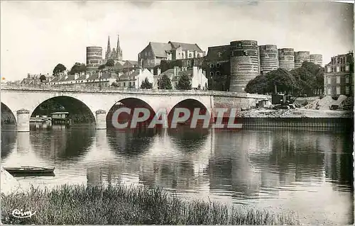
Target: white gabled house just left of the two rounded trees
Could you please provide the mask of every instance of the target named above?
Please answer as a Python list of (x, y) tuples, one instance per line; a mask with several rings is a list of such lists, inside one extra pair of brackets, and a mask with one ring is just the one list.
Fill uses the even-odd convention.
[(117, 79), (117, 86), (139, 89), (145, 79), (153, 84), (153, 74), (148, 69), (136, 69), (125, 72)]

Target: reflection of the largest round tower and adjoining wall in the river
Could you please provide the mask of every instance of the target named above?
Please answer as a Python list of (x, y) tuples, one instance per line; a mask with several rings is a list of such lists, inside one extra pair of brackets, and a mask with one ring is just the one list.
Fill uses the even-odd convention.
[(249, 149), (256, 140), (246, 132), (215, 132), (214, 156), (209, 159), (210, 188), (217, 193), (229, 191), (235, 198), (258, 196), (260, 182)]

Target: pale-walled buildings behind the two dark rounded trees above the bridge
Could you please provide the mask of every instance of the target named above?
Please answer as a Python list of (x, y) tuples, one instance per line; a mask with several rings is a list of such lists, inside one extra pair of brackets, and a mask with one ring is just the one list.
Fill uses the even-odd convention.
[(176, 89), (179, 79), (183, 74), (187, 74), (191, 79), (192, 89), (207, 89), (208, 79), (204, 75), (203, 71), (199, 67), (192, 67), (187, 69), (186, 67), (174, 67), (173, 69), (168, 69), (163, 73), (158, 73), (154, 76), (153, 89), (158, 89), (158, 79), (167, 75), (171, 81), (173, 89)]

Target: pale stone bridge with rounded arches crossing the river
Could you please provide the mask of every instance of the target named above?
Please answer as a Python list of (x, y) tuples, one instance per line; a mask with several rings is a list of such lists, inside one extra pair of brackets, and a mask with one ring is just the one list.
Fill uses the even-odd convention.
[(155, 113), (161, 108), (170, 113), (176, 106), (183, 107), (182, 103), (197, 103), (214, 117), (215, 108), (245, 108), (255, 106), (255, 103), (266, 98), (269, 99), (269, 96), (224, 91), (1, 86), (1, 108), (11, 111), (18, 132), (29, 131), (33, 111), (49, 99), (58, 101), (69, 112), (70, 109), (79, 109), (78, 113), (89, 112), (94, 118), (96, 128), (106, 129), (107, 113), (118, 102), (128, 106), (139, 103)]

